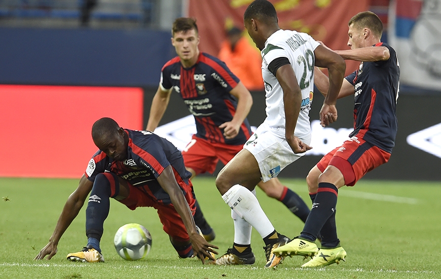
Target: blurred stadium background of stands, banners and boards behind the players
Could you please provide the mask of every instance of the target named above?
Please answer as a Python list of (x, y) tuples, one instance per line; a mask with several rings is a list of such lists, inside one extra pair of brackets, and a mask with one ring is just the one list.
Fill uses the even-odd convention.
[[(0, 176), (79, 178), (96, 151), (90, 137), (95, 120), (108, 116), (123, 127), (145, 127), (160, 69), (175, 55), (173, 19), (196, 17), (200, 50), (216, 55), (225, 26), (241, 26), (250, 2), (98, 0), (87, 26), (78, 20), (82, 1), (0, 2)], [(272, 2), (283, 28), (306, 31), (334, 49), (347, 48), (353, 14), (371, 10), (381, 17), (387, 28), (383, 41), (397, 50), (402, 71), (399, 129), (390, 162), (365, 178), (439, 181), (441, 52), (434, 42), (441, 40), (441, 2), (360, 0), (356, 7), (350, 0)], [(430, 36), (423, 36), (428, 30)], [(349, 63), (348, 72), (355, 67)], [(256, 126), (265, 118), (265, 96), (252, 94), (248, 119)], [(312, 119), (321, 101), (316, 92)], [(339, 121), (321, 133), (320, 145), (352, 126), (352, 107), (351, 98), (339, 100)], [(160, 124), (188, 115), (173, 96)], [(320, 158), (305, 156), (281, 176), (304, 178)]]

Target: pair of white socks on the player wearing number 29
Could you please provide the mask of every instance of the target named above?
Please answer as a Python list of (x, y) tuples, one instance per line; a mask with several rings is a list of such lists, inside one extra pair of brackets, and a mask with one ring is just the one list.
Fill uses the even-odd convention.
[[(262, 238), (268, 236), (274, 231), (274, 227), (270, 220), (262, 210), (258, 199), (247, 188), (236, 184), (231, 187), (223, 196), (224, 201), (237, 214), (236, 219), (231, 214), (234, 221), (234, 239), (237, 244), (251, 243), (251, 228), (242, 223), (239, 219), (244, 219), (247, 223), (253, 226)], [(237, 224), (236, 224), (237, 223)], [(249, 231), (249, 232), (248, 232)], [(247, 242), (240, 243), (236, 242)], [(249, 239), (249, 240), (248, 240)]]

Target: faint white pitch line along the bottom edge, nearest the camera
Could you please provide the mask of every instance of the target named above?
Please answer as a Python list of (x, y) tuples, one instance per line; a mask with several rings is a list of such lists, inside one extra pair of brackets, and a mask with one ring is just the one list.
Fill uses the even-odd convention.
[[(25, 266), (25, 267), (72, 267), (72, 266), (80, 266), (80, 267), (91, 267), (88, 263), (72, 263), (72, 264), (49, 264), (49, 263), (35, 263), (35, 264), (27, 264), (27, 263), (0, 263), (0, 266)], [(107, 268), (117, 268), (121, 270), (121, 268), (161, 268), (161, 269), (214, 269), (214, 268), (228, 268), (235, 270), (246, 270), (246, 269), (264, 269), (263, 267), (254, 267), (254, 266), (164, 266), (164, 265), (150, 265), (148, 262), (145, 265), (134, 265), (134, 266), (123, 266), (123, 265), (111, 265), (107, 266)], [(266, 268), (265, 268), (266, 269)], [(277, 270), (311, 270), (311, 268), (303, 268), (303, 267), (277, 267)], [(341, 269), (327, 269), (326, 267), (315, 268), (313, 270), (317, 271), (347, 271), (347, 272), (362, 272), (362, 273), (413, 273), (413, 274), (432, 274), (437, 273), (431, 270), (396, 270), (396, 269), (363, 269), (363, 268), (341, 268)]]

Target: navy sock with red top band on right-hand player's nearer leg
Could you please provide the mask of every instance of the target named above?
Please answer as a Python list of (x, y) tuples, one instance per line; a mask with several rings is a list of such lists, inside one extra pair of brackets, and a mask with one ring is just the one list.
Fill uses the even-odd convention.
[(318, 184), (317, 196), (300, 234), (301, 237), (315, 241), (324, 223), (335, 212), (337, 195), (338, 189), (334, 184), (323, 182)]

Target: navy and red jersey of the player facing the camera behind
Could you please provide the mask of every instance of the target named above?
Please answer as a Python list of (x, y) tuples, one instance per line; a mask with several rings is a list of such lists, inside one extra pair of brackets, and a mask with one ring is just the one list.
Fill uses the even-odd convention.
[(239, 134), (231, 139), (218, 126), (231, 121), (236, 112), (237, 99), (230, 94), (239, 79), (227, 65), (206, 53), (200, 53), (195, 65), (185, 68), (175, 57), (165, 63), (160, 85), (173, 88), (182, 97), (195, 117), (196, 136), (209, 142), (243, 145), (251, 135), (248, 120), (242, 123)]

